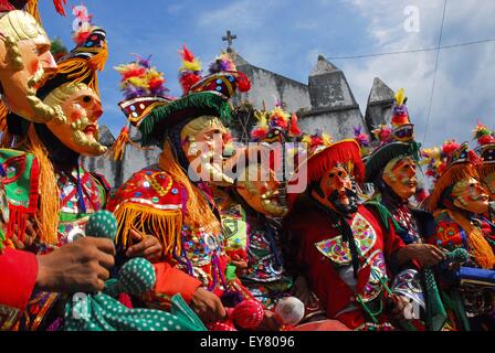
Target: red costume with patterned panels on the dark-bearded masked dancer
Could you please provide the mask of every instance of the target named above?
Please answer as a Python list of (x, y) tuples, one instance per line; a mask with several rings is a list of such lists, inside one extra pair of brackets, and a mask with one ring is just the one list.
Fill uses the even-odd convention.
[[(359, 304), (385, 295), (380, 281), (371, 277), (371, 268), (383, 276), (388, 275), (386, 261), (393, 261), (393, 254), (404, 244), (390, 227), (390, 233), (380, 225), (375, 216), (364, 206), (359, 206), (349, 220), (358, 247), (364, 256), (359, 257), (360, 269), (357, 286), (352, 288), (339, 275), (339, 267), (350, 263), (349, 249), (341, 242), (338, 226), (328, 214), (323, 212), (315, 201), (301, 200), (286, 218), (289, 247), (297, 249), (294, 254), (293, 268), (305, 275), (310, 289), (318, 296), (330, 319), (337, 319), (350, 329), (360, 329), (368, 321), (366, 312)], [(351, 276), (351, 275), (350, 275)], [(378, 317), (380, 324), (387, 318)]]

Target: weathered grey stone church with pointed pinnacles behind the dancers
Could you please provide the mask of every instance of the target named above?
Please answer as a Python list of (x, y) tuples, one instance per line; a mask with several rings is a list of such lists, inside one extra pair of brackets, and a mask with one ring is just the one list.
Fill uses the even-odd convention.
[[(238, 69), (252, 83), (249, 93), (238, 94), (232, 99), (238, 116), (230, 128), (239, 141), (249, 140), (249, 132), (256, 122), (252, 116), (242, 115), (242, 106), (249, 104), (251, 109), (262, 110), (264, 103), (272, 103), (274, 97), (287, 111), (297, 114), (303, 131), (313, 133), (319, 128), (335, 140), (352, 138), (352, 127), (361, 126), (369, 133), (378, 125), (390, 122), (393, 92), (378, 77), (372, 83), (364, 117), (345, 74), (324, 56), (318, 56), (308, 83), (304, 84), (252, 65), (233, 51), (231, 42), (229, 44), (228, 51), (233, 54)], [(138, 133), (133, 140), (139, 141)], [(108, 147), (115, 142), (106, 126), (101, 127), (101, 141)], [(140, 150), (128, 146), (123, 161), (99, 157), (85, 158), (83, 163), (88, 170), (105, 175), (112, 186), (118, 186), (134, 172), (156, 163), (159, 153), (159, 149)]]

